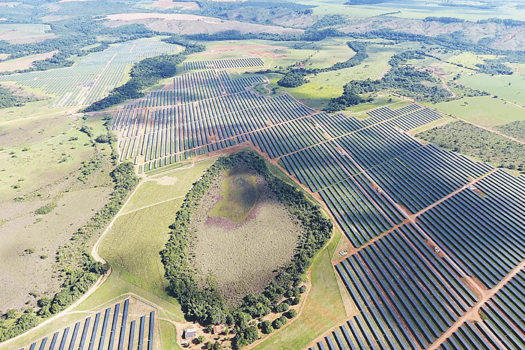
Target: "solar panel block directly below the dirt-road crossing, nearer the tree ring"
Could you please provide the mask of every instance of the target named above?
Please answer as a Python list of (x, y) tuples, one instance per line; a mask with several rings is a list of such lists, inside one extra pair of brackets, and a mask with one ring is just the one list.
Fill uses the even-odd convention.
[(476, 301), (412, 225), (353, 254), (337, 270), (390, 348), (427, 348)]

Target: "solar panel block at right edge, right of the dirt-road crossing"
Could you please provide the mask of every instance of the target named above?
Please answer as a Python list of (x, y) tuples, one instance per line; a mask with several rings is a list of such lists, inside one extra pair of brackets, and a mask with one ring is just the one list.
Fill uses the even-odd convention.
[(497, 170), (419, 217), (466, 273), (493, 288), (525, 259), (525, 177)]

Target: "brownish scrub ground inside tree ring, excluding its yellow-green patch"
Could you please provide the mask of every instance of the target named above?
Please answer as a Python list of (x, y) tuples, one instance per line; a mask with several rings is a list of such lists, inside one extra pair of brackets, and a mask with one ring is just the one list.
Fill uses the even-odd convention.
[(192, 263), (201, 285), (211, 272), (227, 304), (236, 305), (244, 296), (264, 290), (274, 271), (290, 261), (301, 228), (259, 175), (259, 199), (245, 221), (209, 218), (221, 199), (223, 178), (214, 179), (193, 215)]

